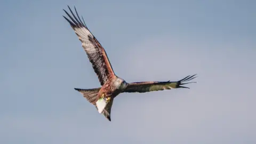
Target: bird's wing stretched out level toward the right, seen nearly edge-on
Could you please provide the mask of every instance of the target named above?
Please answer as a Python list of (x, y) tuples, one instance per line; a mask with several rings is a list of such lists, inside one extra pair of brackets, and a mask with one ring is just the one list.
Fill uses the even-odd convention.
[(180, 81), (177, 82), (135, 82), (135, 83), (129, 83), (126, 89), (123, 92), (151, 92), (151, 91), (163, 91), (163, 90), (171, 90), (171, 89), (177, 89), (177, 88), (187, 88), (185, 86), (181, 86), (184, 84), (189, 83), (196, 83), (196, 82), (188, 82), (191, 79), (196, 78), (195, 75), (193, 76), (187, 76)]

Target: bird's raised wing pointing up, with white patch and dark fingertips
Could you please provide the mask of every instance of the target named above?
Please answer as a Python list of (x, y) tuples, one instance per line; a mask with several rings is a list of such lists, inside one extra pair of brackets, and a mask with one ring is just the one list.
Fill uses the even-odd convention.
[(71, 17), (71, 15), (65, 10), (64, 11), (71, 20), (67, 19), (65, 16), (63, 17), (69, 22), (70, 26), (74, 29), (79, 40), (82, 42), (82, 46), (90, 62), (92, 63), (92, 67), (95, 73), (98, 75), (100, 84), (104, 85), (108, 78), (115, 75), (113, 68), (111, 67), (111, 64), (108, 60), (107, 53), (105, 52), (101, 44), (98, 42), (98, 40), (92, 35), (91, 31), (87, 28), (85, 22), (83, 23), (81, 21), (77, 14), (76, 7), (75, 11), (77, 17), (71, 11), (69, 6), (68, 9), (70, 10), (74, 18)]

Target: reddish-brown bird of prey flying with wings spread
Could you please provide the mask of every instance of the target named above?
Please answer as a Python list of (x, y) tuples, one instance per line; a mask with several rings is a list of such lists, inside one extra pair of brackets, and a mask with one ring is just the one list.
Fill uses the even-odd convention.
[(185, 78), (180, 79), (176, 82), (134, 82), (127, 83), (121, 77), (115, 75), (114, 70), (108, 60), (107, 53), (105, 49), (101, 46), (99, 41), (93, 36), (91, 31), (85, 25), (83, 16), (83, 22), (81, 18), (78, 16), (76, 11), (76, 15), (71, 11), (70, 7), (68, 9), (71, 12), (71, 15), (66, 11), (69, 19), (63, 16), (70, 24), (71, 28), (75, 31), (78, 39), (82, 42), (82, 47), (89, 58), (89, 61), (92, 63), (92, 67), (94, 72), (97, 74), (101, 87), (95, 89), (77, 89), (78, 92), (83, 94), (83, 97), (86, 98), (92, 105), (94, 105), (100, 114), (103, 114), (109, 121), (111, 121), (110, 113), (111, 107), (113, 105), (114, 98), (124, 92), (151, 92), (151, 91), (163, 91), (163, 90), (171, 90), (177, 88), (188, 88), (186, 86), (182, 86), (188, 83), (191, 79), (196, 78), (196, 75), (189, 75)]

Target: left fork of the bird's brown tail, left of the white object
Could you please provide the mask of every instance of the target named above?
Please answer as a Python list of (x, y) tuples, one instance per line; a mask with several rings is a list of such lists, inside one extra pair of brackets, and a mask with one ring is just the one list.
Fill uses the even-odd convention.
[(86, 98), (92, 104), (95, 104), (96, 101), (99, 99), (97, 96), (98, 96), (98, 92), (100, 91), (100, 87), (95, 89), (77, 89), (77, 88), (74, 88), (74, 89), (77, 90), (78, 92), (81, 92), (84, 98)]

